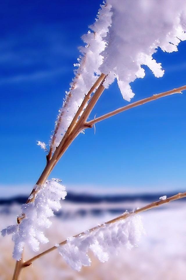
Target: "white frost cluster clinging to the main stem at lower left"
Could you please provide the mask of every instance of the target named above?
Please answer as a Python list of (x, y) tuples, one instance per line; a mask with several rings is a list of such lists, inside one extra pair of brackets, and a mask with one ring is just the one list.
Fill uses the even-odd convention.
[[(38, 190), (37, 190), (38, 188)], [(10, 225), (1, 231), (1, 234), (12, 234), (14, 241), (13, 258), (21, 259), (25, 244), (33, 251), (38, 251), (40, 243), (49, 242), (43, 230), (51, 225), (49, 219), (54, 215), (53, 210), (61, 208), (60, 199), (65, 199), (67, 195), (65, 187), (60, 184), (60, 180), (51, 179), (42, 186), (36, 185), (37, 191), (33, 202), (22, 205), (25, 217), (17, 225)], [(32, 195), (31, 195), (32, 196)], [(32, 197), (30, 197), (32, 198)]]

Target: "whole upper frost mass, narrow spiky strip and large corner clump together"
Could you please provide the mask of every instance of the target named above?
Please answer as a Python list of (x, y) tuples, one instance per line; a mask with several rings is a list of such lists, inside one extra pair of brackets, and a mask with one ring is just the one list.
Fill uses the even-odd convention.
[[(152, 55), (160, 47), (164, 52), (177, 51), (186, 39), (185, 0), (107, 0), (101, 5), (96, 21), (83, 35), (85, 46), (74, 66), (75, 78), (56, 120), (51, 148), (55, 150), (81, 106), (85, 94), (98, 76), (108, 75), (104, 86), (117, 79), (124, 99), (134, 93), (130, 83), (144, 78), (142, 65), (147, 65), (155, 77), (162, 77), (161, 63)], [(86, 107), (86, 105), (85, 105)]]

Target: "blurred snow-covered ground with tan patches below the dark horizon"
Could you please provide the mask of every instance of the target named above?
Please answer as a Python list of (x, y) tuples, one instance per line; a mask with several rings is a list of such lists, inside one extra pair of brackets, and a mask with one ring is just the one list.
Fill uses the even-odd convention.
[[(63, 203), (63, 202), (62, 202)], [(143, 202), (140, 202), (143, 204)], [(140, 205), (141, 206), (141, 205)], [(7, 206), (8, 207), (8, 206)], [(63, 205), (65, 207), (65, 203)], [(69, 207), (69, 204), (67, 204)], [(79, 205), (81, 207), (81, 205)], [(108, 207), (108, 205), (107, 205)], [(131, 206), (133, 207), (133, 206)], [(3, 209), (3, 211), (1, 211)], [(20, 206), (12, 205), (6, 212), (0, 207), (1, 228), (13, 224)], [(162, 206), (143, 213), (142, 221), (146, 234), (138, 248), (122, 250), (108, 262), (100, 263), (92, 257), (92, 265), (81, 272), (73, 271), (58, 254), (57, 250), (33, 262), (33, 266), (24, 269), (20, 279), (63, 279), (63, 280), (182, 280), (186, 274), (186, 204), (185, 201)], [(98, 223), (113, 218), (107, 212), (101, 216), (76, 218), (56, 217), (46, 232), (50, 245), (43, 245), (41, 251), (63, 241), (67, 237), (86, 230)], [(10, 236), (0, 237), (0, 279), (11, 279), (14, 261)], [(26, 250), (26, 259), (33, 253)]]

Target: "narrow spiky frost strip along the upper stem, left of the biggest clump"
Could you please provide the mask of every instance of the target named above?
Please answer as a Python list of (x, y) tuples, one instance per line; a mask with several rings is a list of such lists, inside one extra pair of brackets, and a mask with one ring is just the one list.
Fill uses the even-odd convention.
[(106, 42), (103, 38), (107, 35), (108, 28), (112, 22), (112, 12), (110, 9), (111, 5), (109, 4), (101, 5), (96, 22), (90, 26), (92, 32), (88, 31), (87, 34), (82, 36), (85, 47), (79, 48), (81, 56), (77, 59), (78, 63), (74, 64), (78, 69), (74, 71), (75, 78), (70, 84), (69, 92), (66, 92), (63, 106), (55, 123), (55, 131), (51, 137), (53, 150), (58, 147), (74, 115), (81, 106), (85, 94), (88, 93), (101, 74), (99, 67), (103, 63), (103, 56), (100, 53), (106, 47)]

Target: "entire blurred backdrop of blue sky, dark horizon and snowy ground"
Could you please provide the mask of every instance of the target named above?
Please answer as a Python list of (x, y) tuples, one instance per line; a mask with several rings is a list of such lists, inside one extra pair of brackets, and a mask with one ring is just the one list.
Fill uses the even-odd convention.
[[(58, 109), (73, 78), (81, 36), (100, 1), (4, 1), (0, 9), (0, 224), (14, 224), (45, 166), (36, 141), (49, 142)], [(185, 85), (186, 42), (176, 53), (157, 50), (165, 74), (131, 84), (131, 102)], [(86, 130), (72, 143), (51, 178), (67, 189), (47, 236), (67, 237), (185, 190), (186, 93), (133, 108)], [(128, 104), (116, 83), (105, 90), (91, 118)], [(74, 272), (57, 252), (23, 271), (21, 279), (185, 279), (185, 200), (142, 214), (146, 235), (138, 248), (107, 263)], [(0, 237), (0, 279), (14, 269), (11, 237)], [(26, 252), (28, 258), (33, 255)]]

